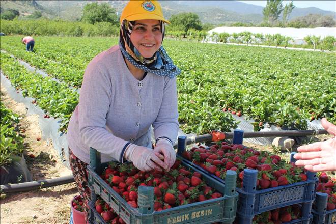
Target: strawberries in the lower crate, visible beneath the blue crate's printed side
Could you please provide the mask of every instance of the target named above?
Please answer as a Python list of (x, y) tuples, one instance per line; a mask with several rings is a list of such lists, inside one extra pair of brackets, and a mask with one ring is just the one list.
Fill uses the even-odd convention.
[(253, 218), (255, 224), (281, 224), (301, 218), (301, 208), (299, 205), (291, 205), (277, 208), (272, 211), (263, 212)]

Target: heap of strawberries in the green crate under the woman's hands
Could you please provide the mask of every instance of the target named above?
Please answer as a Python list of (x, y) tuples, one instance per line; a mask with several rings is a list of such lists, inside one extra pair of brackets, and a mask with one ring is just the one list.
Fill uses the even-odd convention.
[(138, 186), (154, 187), (155, 211), (222, 197), (206, 185), (201, 173), (189, 171), (179, 159), (169, 172), (143, 172), (131, 163), (111, 162), (100, 177), (133, 208), (138, 207)]

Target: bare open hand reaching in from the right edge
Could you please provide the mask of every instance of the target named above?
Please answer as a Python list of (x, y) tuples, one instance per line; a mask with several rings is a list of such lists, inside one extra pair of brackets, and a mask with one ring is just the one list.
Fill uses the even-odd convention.
[(324, 142), (312, 143), (297, 148), (299, 153), (294, 155), (298, 166), (312, 172), (336, 171), (336, 125), (322, 118), (322, 126), (329, 134), (331, 139)]

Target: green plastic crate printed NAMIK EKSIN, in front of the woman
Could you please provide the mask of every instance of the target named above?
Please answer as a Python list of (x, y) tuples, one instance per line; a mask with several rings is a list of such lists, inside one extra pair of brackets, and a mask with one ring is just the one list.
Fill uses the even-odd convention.
[[(182, 161), (182, 165), (191, 171), (195, 169)], [(107, 163), (101, 164), (100, 153), (90, 148), (90, 165), (88, 165), (89, 187), (91, 189), (90, 223), (104, 223), (93, 210), (93, 202), (99, 195), (127, 223), (232, 223), (236, 216), (238, 193), (236, 189), (236, 172), (229, 173), (227, 184), (223, 184), (207, 174), (200, 172), (208, 186), (219, 191), (223, 197), (181, 205), (162, 211), (154, 211), (154, 188), (138, 187), (138, 208), (132, 208), (99, 176)], [(97, 216), (98, 214), (98, 216)]]

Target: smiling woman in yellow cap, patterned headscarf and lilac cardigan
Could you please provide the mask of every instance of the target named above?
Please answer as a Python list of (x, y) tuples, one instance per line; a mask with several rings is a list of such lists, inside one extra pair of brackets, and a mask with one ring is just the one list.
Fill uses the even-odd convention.
[(169, 21), (157, 1), (130, 1), (120, 22), (119, 44), (87, 66), (68, 126), (70, 166), (85, 202), (90, 147), (101, 153), (102, 162), (130, 161), (142, 171), (169, 171), (176, 157), (181, 71), (161, 46)]

